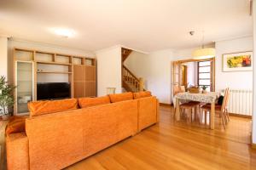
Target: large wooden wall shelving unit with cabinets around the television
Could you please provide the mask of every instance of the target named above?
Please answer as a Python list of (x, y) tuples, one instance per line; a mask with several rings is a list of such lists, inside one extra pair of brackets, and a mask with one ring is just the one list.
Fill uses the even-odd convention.
[(72, 98), (96, 97), (96, 59), (93, 58), (14, 48), (14, 70), (14, 82), (18, 87), (15, 89), (15, 114), (27, 111), (26, 102), (20, 100), (22, 96), (37, 100), (40, 77), (63, 75), (71, 84)]

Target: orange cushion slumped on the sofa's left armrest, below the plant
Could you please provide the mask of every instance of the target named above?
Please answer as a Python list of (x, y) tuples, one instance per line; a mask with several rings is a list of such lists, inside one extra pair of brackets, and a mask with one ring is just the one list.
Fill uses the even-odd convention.
[(12, 116), (5, 128), (5, 134), (25, 132), (26, 117)]

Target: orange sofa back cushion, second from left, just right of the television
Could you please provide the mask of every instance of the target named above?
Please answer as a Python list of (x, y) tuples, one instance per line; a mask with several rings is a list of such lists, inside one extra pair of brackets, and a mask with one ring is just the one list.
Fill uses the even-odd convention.
[(91, 107), (95, 105), (109, 104), (110, 99), (108, 96), (102, 96), (98, 98), (79, 98), (79, 107)]

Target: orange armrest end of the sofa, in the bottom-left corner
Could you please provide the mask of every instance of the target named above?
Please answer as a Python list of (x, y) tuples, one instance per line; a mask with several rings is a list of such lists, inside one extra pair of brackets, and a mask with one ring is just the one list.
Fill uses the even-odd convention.
[(26, 133), (9, 133), (6, 136), (7, 168), (28, 170), (28, 139)]

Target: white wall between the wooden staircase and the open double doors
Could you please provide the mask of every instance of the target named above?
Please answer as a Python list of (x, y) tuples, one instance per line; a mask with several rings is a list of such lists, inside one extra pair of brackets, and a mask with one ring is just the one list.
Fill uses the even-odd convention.
[(133, 52), (125, 65), (145, 79), (145, 88), (152, 92), (160, 103), (171, 103), (171, 49), (156, 51), (151, 54)]

